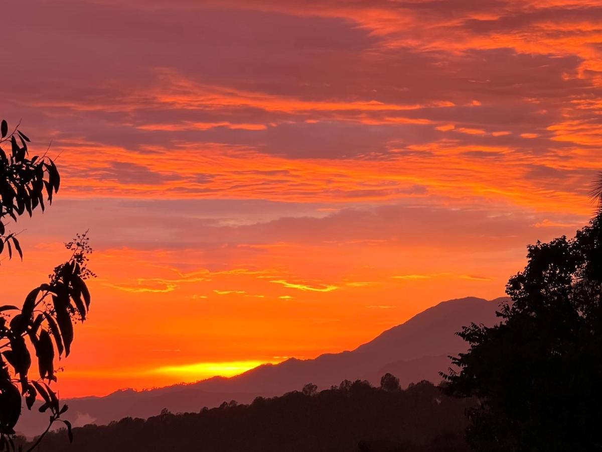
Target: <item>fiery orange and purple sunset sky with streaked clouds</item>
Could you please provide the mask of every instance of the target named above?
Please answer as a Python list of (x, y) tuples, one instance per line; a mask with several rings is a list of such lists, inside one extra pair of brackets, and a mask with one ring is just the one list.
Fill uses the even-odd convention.
[(89, 230), (61, 397), (351, 350), (504, 295), (602, 168), (602, 1), (8, 0), (2, 108), (61, 172), (11, 304)]

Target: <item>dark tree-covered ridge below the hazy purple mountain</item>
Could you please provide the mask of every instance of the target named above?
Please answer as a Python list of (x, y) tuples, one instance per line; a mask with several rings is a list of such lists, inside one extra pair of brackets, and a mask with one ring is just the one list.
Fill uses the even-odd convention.
[(422, 381), (397, 389), (391, 381), (343, 381), (317, 392), (307, 385), (282, 397), (235, 401), (197, 413), (163, 410), (149, 419), (52, 433), (40, 451), (467, 451), (466, 399)]

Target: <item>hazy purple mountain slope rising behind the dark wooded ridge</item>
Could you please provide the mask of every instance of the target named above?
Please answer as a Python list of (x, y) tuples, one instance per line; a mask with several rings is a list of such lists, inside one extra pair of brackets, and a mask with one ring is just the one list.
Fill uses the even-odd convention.
[[(309, 382), (320, 389), (358, 378), (378, 385), (386, 372), (399, 377), (402, 387), (420, 380), (438, 383), (441, 380), (438, 372), (450, 366), (447, 356), (466, 350), (456, 331), (470, 322), (494, 324), (498, 321), (495, 311), (503, 300), (507, 299), (487, 301), (468, 297), (444, 301), (353, 351), (328, 353), (308, 360), (291, 358), (231, 378), (214, 377), (188, 385), (147, 391), (126, 389), (105, 397), (67, 400), (69, 411), (65, 417), (74, 425), (83, 425), (107, 424), (125, 416), (147, 418), (163, 408), (171, 412), (198, 412), (203, 406), (218, 406), (223, 401), (250, 403), (259, 395), (282, 395)], [(23, 435), (34, 436), (45, 428), (45, 422), (46, 416), (34, 409), (24, 413), (16, 429)]]

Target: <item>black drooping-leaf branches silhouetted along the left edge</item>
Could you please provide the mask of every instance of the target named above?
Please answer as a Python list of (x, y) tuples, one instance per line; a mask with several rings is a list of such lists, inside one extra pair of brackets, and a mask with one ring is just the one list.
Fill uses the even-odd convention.
[[(31, 216), (38, 208), (44, 210), (45, 199), (51, 204), (58, 192), (60, 175), (46, 155), (29, 158), (29, 138), (19, 130), (19, 124), (9, 134), (7, 122), (2, 121), (0, 134), (0, 256), (12, 259), (14, 248), (23, 259), (17, 234), (7, 233), (4, 219), (16, 222), (24, 213)], [(11, 150), (7, 154), (2, 146), (8, 143)], [(72, 256), (55, 267), (48, 283), (31, 290), (21, 307), (0, 306), (0, 451), (14, 449), (14, 426), (21, 415), (22, 398), (30, 410), (40, 398), (43, 403), (39, 411), (50, 412), (46, 432), (29, 450), (57, 420), (64, 422), (71, 439), (71, 425), (60, 419), (67, 406), (60, 406), (51, 384), (57, 381), (55, 359), (70, 353), (73, 323), (85, 320), (90, 306), (85, 280), (93, 273), (86, 266), (92, 249), (85, 233), (78, 234), (66, 247)], [(36, 353), (38, 378), (29, 374), (30, 350)]]

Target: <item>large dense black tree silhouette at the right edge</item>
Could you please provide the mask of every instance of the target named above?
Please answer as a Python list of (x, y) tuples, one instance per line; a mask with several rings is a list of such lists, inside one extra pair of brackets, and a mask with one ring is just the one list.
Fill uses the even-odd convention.
[(602, 450), (602, 218), (528, 250), (501, 324), (458, 333), (470, 350), (452, 359), (447, 392), (479, 401), (476, 450)]

